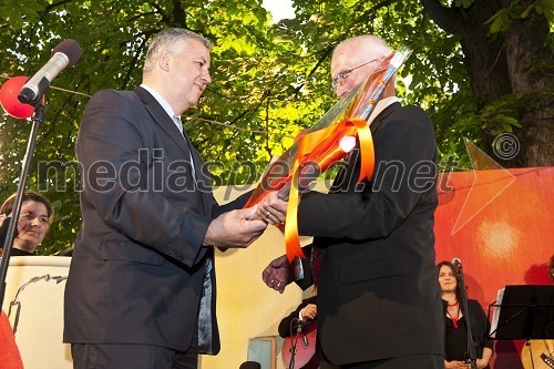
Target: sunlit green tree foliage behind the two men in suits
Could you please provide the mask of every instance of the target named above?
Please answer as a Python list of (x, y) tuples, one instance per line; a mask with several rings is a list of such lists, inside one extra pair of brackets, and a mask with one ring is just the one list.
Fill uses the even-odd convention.
[[(474, 1), (448, 2), (468, 9)], [(57, 212), (40, 253), (70, 247), (80, 227), (74, 144), (88, 95), (140, 84), (147, 41), (163, 28), (187, 28), (213, 42), (213, 83), (199, 104), (186, 112), (185, 127), (209, 162), (217, 185), (255, 182), (273, 155), (285, 152), (300, 130), (322, 116), (336, 102), (330, 91), (331, 51), (361, 33), (413, 50), (400, 71), (399, 96), (430, 113), (443, 166), (469, 167), (463, 137), (479, 143), (482, 130), (517, 126), (513, 100), (476, 110), (460, 40), (439, 29), (418, 0), (294, 0), (296, 18), (276, 24), (269, 23), (260, 3), (0, 0), (0, 75), (31, 75), (68, 38), (84, 51), (79, 63), (53, 83), (69, 92), (47, 93), (45, 124), (28, 182), (53, 202)], [(538, 0), (519, 13), (497, 13), (490, 20), (491, 31), (505, 30), (514, 17), (531, 14), (552, 19), (552, 0)], [(16, 191), (29, 132), (28, 122), (0, 117), (2, 198)]]

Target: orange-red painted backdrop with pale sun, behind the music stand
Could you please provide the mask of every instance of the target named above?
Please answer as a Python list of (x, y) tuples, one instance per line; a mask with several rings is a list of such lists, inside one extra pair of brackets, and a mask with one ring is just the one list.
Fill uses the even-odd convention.
[[(485, 314), (506, 285), (552, 284), (554, 167), (456, 172), (440, 183), (437, 262), (462, 260), (468, 296)], [(522, 346), (496, 341), (494, 369), (520, 368)]]

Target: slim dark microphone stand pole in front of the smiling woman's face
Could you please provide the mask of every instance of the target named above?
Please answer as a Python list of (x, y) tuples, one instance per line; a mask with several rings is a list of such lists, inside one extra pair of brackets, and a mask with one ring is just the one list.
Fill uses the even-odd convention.
[(44, 105), (40, 102), (42, 95), (34, 100), (34, 114), (31, 117), (32, 129), (29, 135), (29, 142), (27, 144), (27, 152), (23, 158), (23, 164), (21, 166), (21, 175), (19, 177), (18, 191), (16, 193), (16, 198), (13, 202), (13, 211), (10, 219), (10, 226), (8, 228), (8, 234), (6, 235), (6, 240), (3, 244), (2, 252), (2, 263), (0, 264), (0, 309), (3, 305), (3, 298), (6, 294), (6, 276), (8, 274), (8, 265), (10, 263), (11, 246), (13, 243), (13, 235), (16, 234), (19, 214), (21, 212), (21, 203), (23, 201), (23, 193), (27, 186), (27, 177), (29, 175), (29, 168), (31, 167), (31, 162), (33, 158), (34, 146), (37, 144), (37, 136), (39, 135), (39, 129), (44, 123)]

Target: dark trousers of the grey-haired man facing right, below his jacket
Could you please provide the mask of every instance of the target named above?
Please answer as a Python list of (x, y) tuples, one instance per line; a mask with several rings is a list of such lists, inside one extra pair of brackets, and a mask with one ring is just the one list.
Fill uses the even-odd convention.
[(197, 347), (175, 351), (151, 345), (72, 344), (74, 369), (196, 369)]

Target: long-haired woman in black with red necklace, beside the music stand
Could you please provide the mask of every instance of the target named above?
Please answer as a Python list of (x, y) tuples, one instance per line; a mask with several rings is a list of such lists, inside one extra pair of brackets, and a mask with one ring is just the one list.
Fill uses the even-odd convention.
[[(468, 321), (461, 308), (462, 291), (458, 284), (454, 266), (450, 262), (437, 265), (444, 307), (444, 368), (471, 368), (468, 352)], [(489, 368), (492, 356), (492, 341), (486, 339), (486, 316), (476, 300), (468, 299), (468, 315), (471, 320), (471, 334), (476, 345), (476, 367)]]

